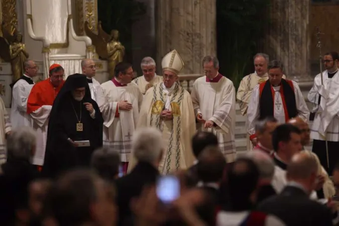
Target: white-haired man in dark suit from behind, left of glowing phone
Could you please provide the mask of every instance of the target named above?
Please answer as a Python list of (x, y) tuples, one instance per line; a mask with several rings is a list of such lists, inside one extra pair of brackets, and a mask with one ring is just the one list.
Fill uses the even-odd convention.
[(134, 133), (132, 154), (138, 163), (130, 174), (116, 181), (119, 225), (131, 221), (131, 200), (138, 197), (145, 186), (156, 183), (164, 150), (162, 134), (157, 129), (142, 128)]

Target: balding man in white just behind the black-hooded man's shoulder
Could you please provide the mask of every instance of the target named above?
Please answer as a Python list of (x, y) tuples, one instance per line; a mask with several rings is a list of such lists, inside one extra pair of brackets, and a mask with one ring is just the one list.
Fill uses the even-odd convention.
[(100, 83), (94, 78), (96, 65), (92, 59), (83, 59), (81, 61), (82, 74), (86, 75), (90, 89), (91, 98), (100, 107), (103, 104), (103, 91)]

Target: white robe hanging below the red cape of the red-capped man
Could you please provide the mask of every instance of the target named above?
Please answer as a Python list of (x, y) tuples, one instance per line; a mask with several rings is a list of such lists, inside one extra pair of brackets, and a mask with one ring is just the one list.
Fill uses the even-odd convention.
[(51, 110), (51, 105), (42, 105), (30, 114), (32, 118), (32, 128), (37, 133), (37, 147), (32, 159), (33, 165), (44, 165), (49, 114)]

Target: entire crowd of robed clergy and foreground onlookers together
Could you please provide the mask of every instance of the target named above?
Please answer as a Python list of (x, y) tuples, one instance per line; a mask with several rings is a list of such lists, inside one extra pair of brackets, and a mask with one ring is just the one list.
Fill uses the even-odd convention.
[[(4, 225), (333, 225), (336, 210), (336, 52), (324, 55), (308, 98), (283, 65), (254, 56), (236, 92), (215, 57), (191, 92), (178, 81), (177, 51), (117, 64), (100, 84), (93, 60), (65, 80), (62, 65), (35, 83), (38, 67), (0, 101), (0, 220)], [(236, 103), (248, 152), (235, 146)], [(305, 150), (313, 139), (312, 152)], [(330, 179), (333, 175), (333, 180)]]

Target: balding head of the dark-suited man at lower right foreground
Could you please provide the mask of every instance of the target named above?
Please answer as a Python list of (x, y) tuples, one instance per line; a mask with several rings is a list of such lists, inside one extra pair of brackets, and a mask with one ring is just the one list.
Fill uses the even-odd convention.
[(297, 182), (310, 194), (316, 184), (318, 164), (316, 160), (307, 153), (295, 154), (287, 166), (287, 180)]

